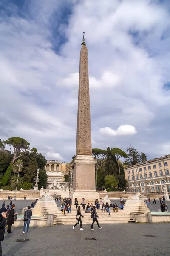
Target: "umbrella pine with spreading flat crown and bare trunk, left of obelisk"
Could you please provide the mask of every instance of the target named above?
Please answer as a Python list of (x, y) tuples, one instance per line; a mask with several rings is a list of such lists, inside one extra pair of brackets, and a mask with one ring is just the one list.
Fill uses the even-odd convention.
[(10, 150), (13, 153), (12, 163), (14, 163), (15, 160), (26, 154), (30, 143), (20, 137), (11, 137), (8, 140), (3, 141), (3, 145), (10, 147)]

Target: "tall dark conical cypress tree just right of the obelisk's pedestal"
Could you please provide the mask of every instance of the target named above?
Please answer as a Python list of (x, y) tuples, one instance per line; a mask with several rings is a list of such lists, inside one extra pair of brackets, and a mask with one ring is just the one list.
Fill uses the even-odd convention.
[(111, 149), (107, 148), (107, 159), (105, 161), (105, 175), (118, 174), (118, 166), (116, 157), (111, 153)]

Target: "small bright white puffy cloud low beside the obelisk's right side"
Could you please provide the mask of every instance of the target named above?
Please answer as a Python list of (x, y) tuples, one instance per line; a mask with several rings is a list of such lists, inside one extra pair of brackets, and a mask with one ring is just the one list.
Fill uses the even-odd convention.
[(137, 133), (136, 128), (132, 125), (120, 125), (117, 130), (106, 126), (105, 128), (100, 128), (99, 132), (107, 136), (133, 135)]

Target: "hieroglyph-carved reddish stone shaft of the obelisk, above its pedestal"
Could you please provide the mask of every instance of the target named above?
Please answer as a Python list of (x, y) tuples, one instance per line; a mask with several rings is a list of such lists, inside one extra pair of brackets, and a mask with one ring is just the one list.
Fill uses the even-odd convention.
[(88, 81), (88, 49), (82, 45), (79, 64), (76, 155), (91, 155), (91, 119)]

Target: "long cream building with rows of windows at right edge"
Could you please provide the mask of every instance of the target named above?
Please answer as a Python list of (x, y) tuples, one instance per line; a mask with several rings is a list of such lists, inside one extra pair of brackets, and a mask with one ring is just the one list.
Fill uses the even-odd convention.
[(127, 192), (170, 192), (170, 154), (124, 169)]

